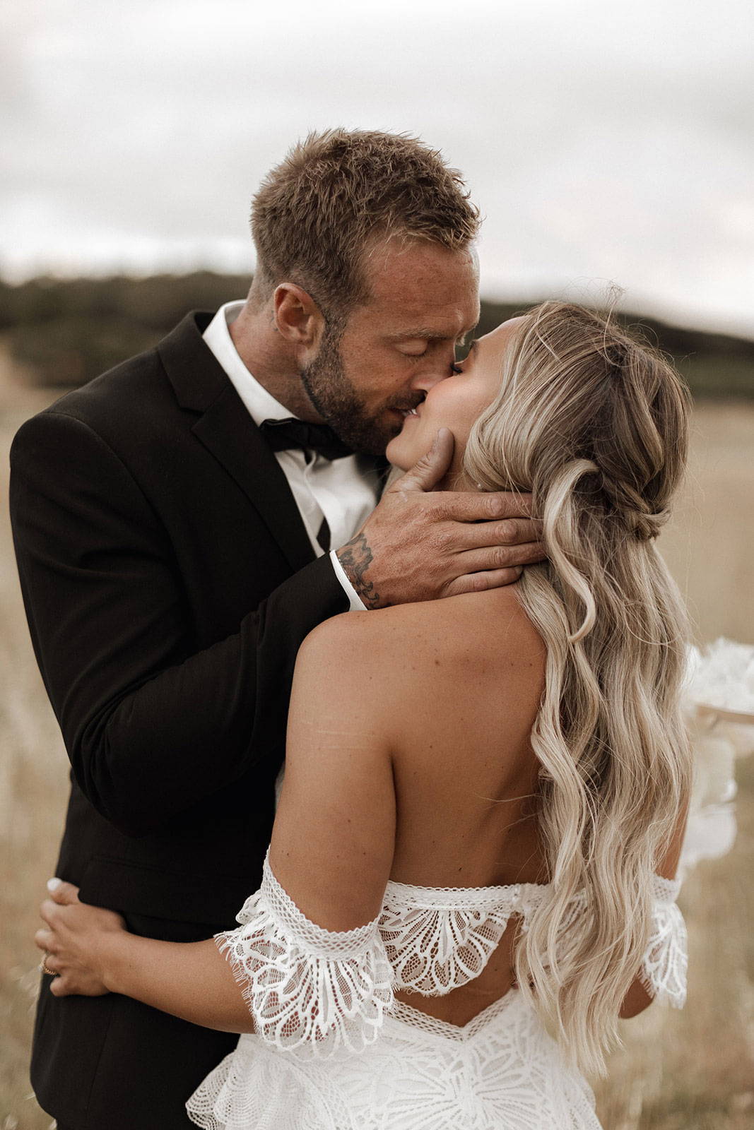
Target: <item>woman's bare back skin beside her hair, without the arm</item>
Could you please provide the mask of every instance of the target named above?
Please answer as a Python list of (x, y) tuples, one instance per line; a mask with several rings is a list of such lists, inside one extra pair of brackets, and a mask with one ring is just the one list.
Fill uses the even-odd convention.
[[(379, 615), (382, 623), (371, 628), (391, 671), (383, 703), (397, 799), (391, 878), (427, 887), (546, 881), (529, 740), (545, 650), (515, 592)], [(513, 982), (515, 927), (513, 920), (469, 984), (447, 997), (399, 999), (451, 1024), (468, 1023)]]

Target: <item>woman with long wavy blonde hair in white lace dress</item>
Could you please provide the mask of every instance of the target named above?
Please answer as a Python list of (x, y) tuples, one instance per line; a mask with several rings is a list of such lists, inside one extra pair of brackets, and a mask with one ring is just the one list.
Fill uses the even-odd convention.
[(687, 415), (669, 364), (580, 307), (475, 342), (388, 458), (407, 469), (449, 428), (444, 485), (530, 492), (548, 560), (307, 637), (239, 929), (140, 938), (53, 890), (55, 996), (243, 1033), (187, 1096), (198, 1125), (599, 1127), (581, 1072), (619, 1017), (685, 996), (686, 625), (655, 538)]

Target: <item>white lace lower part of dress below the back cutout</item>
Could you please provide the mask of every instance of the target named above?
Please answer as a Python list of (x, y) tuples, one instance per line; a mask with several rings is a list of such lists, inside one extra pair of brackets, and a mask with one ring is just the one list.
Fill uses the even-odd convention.
[(589, 1086), (518, 992), (462, 1028), (396, 1003), (375, 1044), (324, 1062), (242, 1036), (189, 1113), (205, 1130), (599, 1130)]

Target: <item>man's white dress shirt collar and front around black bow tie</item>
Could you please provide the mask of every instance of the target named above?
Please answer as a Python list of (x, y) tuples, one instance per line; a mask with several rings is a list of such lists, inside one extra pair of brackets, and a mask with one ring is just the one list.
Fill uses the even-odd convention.
[[(291, 419), (293, 414), (254, 380), (233, 344), (228, 327), (239, 316), (242, 306), (243, 301), (220, 306), (205, 330), (205, 342), (223, 366), (254, 424)], [(323, 518), (330, 528), (330, 545), (339, 548), (353, 538), (379, 501), (378, 476), (359, 466), (358, 455), (329, 460), (318, 452), (292, 449), (276, 451), (275, 458), (288, 481), (318, 557), (324, 553), (317, 540)], [(352, 610), (363, 610), (365, 606), (346, 576), (335, 549), (330, 559)]]

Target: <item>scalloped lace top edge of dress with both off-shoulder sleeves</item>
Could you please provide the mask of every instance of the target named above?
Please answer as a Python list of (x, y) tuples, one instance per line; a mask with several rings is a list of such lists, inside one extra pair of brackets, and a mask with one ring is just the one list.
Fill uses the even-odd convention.
[[(269, 854), (269, 853), (268, 853)], [(686, 930), (675, 904), (681, 884), (653, 877), (652, 933), (642, 962), (648, 992), (681, 1008), (686, 994)], [(237, 915), (241, 928), (218, 935), (254, 1018), (257, 1033), (281, 1050), (327, 1057), (362, 1051), (380, 1032), (393, 990), (442, 997), (485, 968), (512, 914), (523, 929), (551, 889), (415, 887), (390, 881), (378, 919), (354, 930), (311, 922), (265, 860), (262, 885)], [(569, 927), (587, 909), (572, 902)]]

